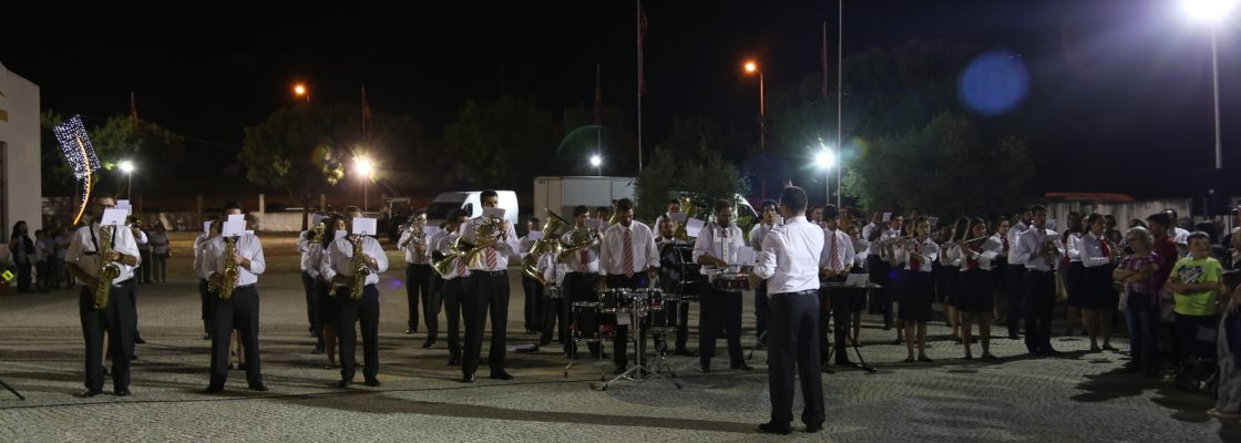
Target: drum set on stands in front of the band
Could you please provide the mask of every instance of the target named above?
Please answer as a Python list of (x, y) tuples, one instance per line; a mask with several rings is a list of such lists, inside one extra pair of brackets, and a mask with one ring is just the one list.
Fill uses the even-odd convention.
[[(572, 303), (572, 315), (573, 315), (573, 341), (575, 342), (603, 342), (616, 339), (616, 328), (619, 325), (632, 325), (634, 328), (633, 340), (635, 349), (642, 349), (638, 340), (643, 340), (642, 329), (643, 324), (654, 325), (653, 331), (663, 331), (666, 328), (666, 315), (664, 310), (664, 303), (669, 299), (660, 288), (612, 288), (598, 290), (598, 302), (575, 302)], [(592, 318), (598, 319), (599, 330), (587, 331), (583, 330), (583, 325), (592, 325)], [(675, 321), (675, 318), (674, 318)], [(675, 326), (671, 326), (675, 329)], [(572, 356), (571, 356), (572, 357)], [(669, 375), (675, 377), (676, 374), (671, 372), (671, 366), (668, 365), (665, 355), (663, 351), (655, 354), (655, 367), (659, 371), (652, 371), (643, 366), (643, 355), (637, 352), (635, 365), (630, 367), (624, 374), (620, 374), (616, 378), (603, 383), (599, 387), (601, 391), (607, 391), (608, 386), (620, 381), (640, 381), (643, 375), (655, 376), (659, 378), (668, 380), (681, 388), (681, 383), (664, 377), (661, 371), (669, 371)], [(573, 366), (573, 361), (570, 360), (568, 365), (565, 366), (565, 376), (568, 376), (568, 369)], [(602, 381), (602, 377), (601, 377)]]

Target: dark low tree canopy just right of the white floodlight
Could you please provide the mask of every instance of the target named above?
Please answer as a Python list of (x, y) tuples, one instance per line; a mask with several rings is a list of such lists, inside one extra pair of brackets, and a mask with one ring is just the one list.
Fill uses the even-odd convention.
[(1004, 213), (1033, 175), (1025, 139), (984, 136), (969, 118), (952, 113), (882, 136), (858, 160), (844, 186), (861, 206), (941, 216)]

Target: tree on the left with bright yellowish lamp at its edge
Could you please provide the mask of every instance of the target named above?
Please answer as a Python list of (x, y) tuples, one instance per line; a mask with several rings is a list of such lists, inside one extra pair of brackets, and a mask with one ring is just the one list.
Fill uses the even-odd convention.
[(345, 161), (361, 135), (356, 109), (304, 104), (277, 110), (246, 127), (238, 159), (246, 179), (283, 187), (302, 204), (302, 228), (311, 200), (345, 175)]

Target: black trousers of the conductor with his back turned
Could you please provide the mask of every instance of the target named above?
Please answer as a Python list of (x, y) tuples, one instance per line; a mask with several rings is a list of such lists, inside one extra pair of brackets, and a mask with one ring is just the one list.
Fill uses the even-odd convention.
[(793, 421), (794, 376), (802, 378), (805, 403), (802, 422), (822, 424), (824, 421), (818, 329), (819, 298), (814, 289), (772, 294), (767, 376), (772, 400), (771, 422), (777, 426)]

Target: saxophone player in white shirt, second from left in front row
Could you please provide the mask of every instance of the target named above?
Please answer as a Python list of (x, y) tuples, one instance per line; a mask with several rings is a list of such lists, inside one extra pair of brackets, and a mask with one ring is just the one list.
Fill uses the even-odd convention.
[[(230, 201), (223, 205), (225, 220), (241, 213), (241, 204)], [(247, 385), (252, 391), (267, 391), (258, 357), (258, 290), (254, 289), (258, 275), (267, 269), (263, 244), (253, 233), (227, 232), (227, 222), (223, 231), (223, 235), (206, 241), (200, 252), (200, 277), (207, 279), (207, 287), (213, 289), (208, 297), (215, 298), (207, 392), (223, 391), (228, 380), (228, 345), (235, 328), (246, 356)]]

